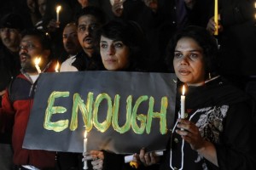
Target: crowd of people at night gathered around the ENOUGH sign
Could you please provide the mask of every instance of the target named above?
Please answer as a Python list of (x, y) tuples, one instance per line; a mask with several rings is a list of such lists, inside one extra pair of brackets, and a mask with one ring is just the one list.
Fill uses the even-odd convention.
[[(61, 5), (59, 20), (55, 8)], [(256, 169), (256, 8), (252, 0), (12, 0), (0, 13), (0, 169), (132, 169), (108, 150), (22, 148), (42, 72), (172, 72), (189, 90), (163, 156), (139, 169)], [(218, 35), (213, 36), (218, 29)], [(82, 150), (81, 150), (82, 152)]]

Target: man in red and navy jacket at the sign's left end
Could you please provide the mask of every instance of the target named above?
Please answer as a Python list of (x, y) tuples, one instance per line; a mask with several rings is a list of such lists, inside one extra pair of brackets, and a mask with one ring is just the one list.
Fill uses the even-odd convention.
[(51, 61), (51, 40), (40, 31), (26, 31), (20, 42), (20, 74), (9, 85), (3, 95), (0, 108), (0, 126), (8, 124), (13, 117), (12, 145), (15, 169), (50, 170), (55, 167), (55, 152), (45, 150), (26, 150), (22, 143), (33, 104), (33, 96), (38, 79), (34, 59), (40, 57), (38, 64), (42, 72), (55, 71)]

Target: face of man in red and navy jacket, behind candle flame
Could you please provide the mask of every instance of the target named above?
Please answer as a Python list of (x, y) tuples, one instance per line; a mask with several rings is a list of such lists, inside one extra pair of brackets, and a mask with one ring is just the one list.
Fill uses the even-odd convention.
[[(44, 69), (49, 50), (43, 49), (39, 37), (27, 35), (20, 42), (20, 64), (27, 73), (36, 72), (34, 60), (41, 58), (39, 66)], [(41, 70), (43, 70), (41, 69)]]

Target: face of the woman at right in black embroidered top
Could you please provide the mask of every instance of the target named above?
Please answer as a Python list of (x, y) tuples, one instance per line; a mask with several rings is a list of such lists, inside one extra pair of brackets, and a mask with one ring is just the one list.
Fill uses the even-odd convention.
[(188, 86), (201, 86), (205, 82), (203, 49), (190, 37), (178, 40), (173, 59), (178, 79)]

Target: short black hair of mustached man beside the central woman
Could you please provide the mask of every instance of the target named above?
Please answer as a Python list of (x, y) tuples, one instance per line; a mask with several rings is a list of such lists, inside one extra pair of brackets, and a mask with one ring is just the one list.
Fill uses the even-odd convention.
[(96, 20), (102, 25), (105, 24), (107, 21), (106, 14), (104, 14), (101, 8), (98, 8), (96, 6), (87, 6), (82, 8), (77, 14), (76, 23), (78, 26), (79, 26), (79, 18), (84, 15), (92, 15), (96, 17)]

